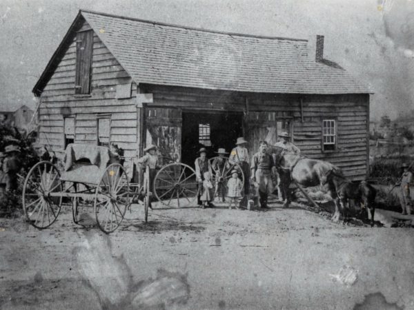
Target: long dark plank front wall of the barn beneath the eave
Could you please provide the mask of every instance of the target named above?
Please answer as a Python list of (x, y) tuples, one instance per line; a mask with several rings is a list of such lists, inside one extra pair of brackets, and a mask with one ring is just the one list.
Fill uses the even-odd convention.
[[(152, 105), (158, 107), (244, 111), (247, 103), (250, 114), (270, 112), (270, 117), (265, 113), (266, 119), (257, 120), (256, 123), (267, 126), (271, 125), (271, 120), (290, 120), (293, 122), (294, 143), (302, 150), (302, 154), (329, 161), (355, 180), (366, 177), (369, 124), (367, 94), (303, 96), (243, 94), (155, 85), (145, 85), (143, 88), (145, 92), (153, 94)], [(331, 152), (322, 151), (322, 120), (326, 118), (337, 121), (337, 149)], [(246, 124), (246, 127), (257, 125), (251, 120), (248, 122), (250, 124)]]

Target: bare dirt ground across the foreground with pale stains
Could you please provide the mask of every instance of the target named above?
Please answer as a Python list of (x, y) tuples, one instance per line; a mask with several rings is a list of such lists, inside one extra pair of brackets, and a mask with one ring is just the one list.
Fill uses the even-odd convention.
[(0, 220), (1, 309), (414, 309), (414, 229), (270, 207), (135, 206), (109, 236), (69, 206)]

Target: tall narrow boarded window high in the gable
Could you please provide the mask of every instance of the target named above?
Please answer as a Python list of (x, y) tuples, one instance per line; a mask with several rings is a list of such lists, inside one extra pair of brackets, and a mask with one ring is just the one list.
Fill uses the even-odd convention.
[(82, 31), (76, 37), (75, 94), (90, 93), (92, 71), (93, 31)]

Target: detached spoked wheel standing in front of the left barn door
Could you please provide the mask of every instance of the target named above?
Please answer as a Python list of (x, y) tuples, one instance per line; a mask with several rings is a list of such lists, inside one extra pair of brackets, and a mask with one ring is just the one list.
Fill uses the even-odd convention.
[(170, 163), (157, 172), (154, 194), (166, 207), (186, 207), (197, 197), (195, 171), (184, 163)]

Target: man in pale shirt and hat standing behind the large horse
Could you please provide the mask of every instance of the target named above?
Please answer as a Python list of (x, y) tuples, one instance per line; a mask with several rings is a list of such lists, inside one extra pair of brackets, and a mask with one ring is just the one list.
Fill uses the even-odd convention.
[[(287, 132), (281, 132), (278, 134), (280, 141), (275, 144), (275, 147), (282, 148), (280, 156), (285, 154), (300, 155), (300, 149), (290, 143), (290, 136)], [(277, 165), (277, 163), (275, 163)], [(282, 169), (277, 170), (277, 196), (279, 201), (284, 201), (288, 195), (288, 187), (290, 185), (290, 172)]]

